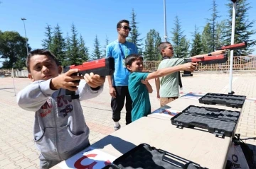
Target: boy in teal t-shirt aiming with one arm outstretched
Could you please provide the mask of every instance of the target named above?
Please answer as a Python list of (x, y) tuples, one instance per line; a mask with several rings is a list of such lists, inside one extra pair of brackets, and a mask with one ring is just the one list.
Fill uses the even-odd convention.
[(129, 93), (132, 98), (132, 122), (151, 113), (149, 93), (152, 87), (148, 80), (172, 74), (176, 71), (194, 71), (196, 63), (180, 64), (164, 69), (158, 69), (152, 73), (142, 72), (143, 58), (138, 54), (131, 54), (125, 59), (125, 66), (131, 72), (129, 75)]

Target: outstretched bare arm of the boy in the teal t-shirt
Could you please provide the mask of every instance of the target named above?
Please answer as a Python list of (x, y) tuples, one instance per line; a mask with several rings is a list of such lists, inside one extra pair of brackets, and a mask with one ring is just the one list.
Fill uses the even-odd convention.
[(168, 74), (172, 74), (176, 71), (194, 71), (196, 69), (196, 66), (198, 64), (196, 63), (186, 63), (186, 64), (181, 64), (178, 66), (173, 66), (173, 67), (167, 67), (164, 69), (159, 69), (157, 71), (154, 71), (150, 73), (145, 80), (150, 80), (153, 78), (159, 78), (162, 76), (166, 76)]

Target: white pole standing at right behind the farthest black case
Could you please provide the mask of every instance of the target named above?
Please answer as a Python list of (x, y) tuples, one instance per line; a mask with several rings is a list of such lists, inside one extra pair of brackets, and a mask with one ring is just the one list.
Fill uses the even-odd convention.
[[(231, 32), (231, 45), (234, 44), (235, 40), (235, 11), (236, 11), (236, 1), (237, 0), (231, 0), (233, 2), (233, 15), (232, 15), (232, 32)], [(235, 92), (232, 91), (232, 81), (233, 81), (233, 56), (234, 51), (230, 51), (230, 78), (229, 78), (229, 95), (233, 95)]]

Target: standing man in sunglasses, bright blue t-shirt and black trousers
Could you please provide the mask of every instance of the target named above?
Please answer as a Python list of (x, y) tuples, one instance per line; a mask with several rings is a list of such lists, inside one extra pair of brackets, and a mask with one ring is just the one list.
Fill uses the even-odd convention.
[(107, 80), (110, 86), (111, 107), (112, 107), (112, 119), (114, 120), (114, 130), (120, 129), (120, 115), (121, 110), (124, 107), (124, 100), (126, 98), (126, 124), (132, 122), (132, 99), (128, 91), (128, 76), (124, 59), (129, 54), (137, 54), (138, 50), (136, 45), (132, 42), (127, 42), (126, 38), (129, 35), (129, 21), (122, 20), (117, 23), (118, 38), (114, 42), (107, 45), (106, 57), (114, 57), (114, 74), (113, 76), (107, 76)]

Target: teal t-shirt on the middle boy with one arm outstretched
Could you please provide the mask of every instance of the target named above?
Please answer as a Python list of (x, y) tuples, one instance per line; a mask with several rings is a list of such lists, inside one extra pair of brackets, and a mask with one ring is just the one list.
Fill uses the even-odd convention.
[(149, 73), (133, 72), (129, 75), (129, 94), (132, 98), (132, 122), (151, 113), (149, 91), (142, 83)]

